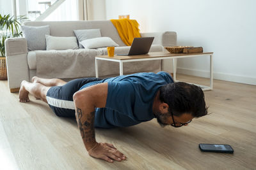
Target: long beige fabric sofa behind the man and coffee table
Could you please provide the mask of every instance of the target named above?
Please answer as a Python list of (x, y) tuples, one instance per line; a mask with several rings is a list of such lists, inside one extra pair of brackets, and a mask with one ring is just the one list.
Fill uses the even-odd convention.
[[(24, 25), (28, 26), (42, 26), (49, 25), (51, 36), (75, 36), (74, 30), (77, 29), (100, 29), (102, 36), (107, 36), (113, 39), (119, 46), (115, 48), (115, 53), (125, 53), (129, 51), (130, 46), (126, 46), (122, 39), (118, 36), (115, 26), (109, 20), (103, 21), (63, 21), (63, 22), (25, 22)], [(164, 51), (163, 46), (173, 46), (177, 43), (176, 32), (148, 32), (141, 33), (142, 37), (154, 36), (153, 45), (150, 48), (150, 52)], [(9, 38), (5, 42), (6, 47), (6, 62), (8, 71), (8, 86), (11, 92), (17, 92), (22, 80), (31, 81), (33, 76), (41, 76), (43, 78), (62, 78), (72, 79), (79, 77), (91, 77), (95, 76), (95, 56), (106, 55), (106, 48), (98, 49), (84, 49), (77, 50), (40, 50), (29, 51), (27, 41), (25, 38)], [(45, 55), (45, 57), (44, 57)], [(65, 56), (61, 60), (51, 55)], [(79, 71), (74, 74), (72, 70), (74, 67), (72, 64), (77, 59), (72, 59), (72, 55), (78, 56), (77, 58), (83, 58), (83, 66)], [(69, 57), (68, 57), (69, 56)], [(70, 57), (71, 56), (71, 57)], [(48, 57), (48, 58), (47, 58)], [(48, 59), (48, 60), (47, 60)], [(45, 61), (44, 61), (45, 60)], [(38, 62), (49, 63), (49, 73), (39, 72), (40, 64)], [(54, 71), (54, 64), (63, 74), (56, 74)], [(45, 67), (42, 67), (45, 69)], [(46, 68), (45, 70), (48, 70)], [(148, 71), (161, 71), (163, 70), (163, 62), (161, 60), (143, 61), (143, 62), (128, 62), (124, 64), (124, 74), (136, 73), (136, 72), (148, 72)], [(165, 70), (170, 71), (171, 70)], [(58, 71), (57, 71), (58, 72)], [(60, 72), (60, 71), (59, 71)], [(72, 73), (72, 74), (68, 74)], [(119, 66), (116, 62), (101, 61), (99, 62), (99, 76), (113, 76), (118, 75)]]

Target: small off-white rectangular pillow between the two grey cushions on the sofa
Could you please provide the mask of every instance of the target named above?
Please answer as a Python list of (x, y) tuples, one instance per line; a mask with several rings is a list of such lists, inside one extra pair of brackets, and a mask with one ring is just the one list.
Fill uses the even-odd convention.
[(45, 38), (46, 38), (46, 50), (78, 49), (77, 39), (74, 36), (58, 37), (58, 36), (45, 35)]

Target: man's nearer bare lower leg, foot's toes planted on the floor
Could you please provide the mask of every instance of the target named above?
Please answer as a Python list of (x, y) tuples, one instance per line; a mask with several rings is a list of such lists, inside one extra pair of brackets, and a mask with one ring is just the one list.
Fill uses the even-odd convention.
[(42, 101), (47, 103), (46, 94), (50, 88), (51, 87), (46, 87), (40, 83), (29, 83), (28, 81), (23, 80), (20, 84), (19, 101), (28, 102), (28, 94), (30, 93), (36, 98), (42, 99)]

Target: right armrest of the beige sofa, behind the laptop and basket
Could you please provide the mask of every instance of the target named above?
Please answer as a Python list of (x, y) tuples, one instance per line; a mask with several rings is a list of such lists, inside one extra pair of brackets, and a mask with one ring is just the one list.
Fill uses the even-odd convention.
[(141, 33), (141, 37), (149, 36), (154, 36), (154, 45), (175, 46), (177, 44), (177, 34), (173, 31)]

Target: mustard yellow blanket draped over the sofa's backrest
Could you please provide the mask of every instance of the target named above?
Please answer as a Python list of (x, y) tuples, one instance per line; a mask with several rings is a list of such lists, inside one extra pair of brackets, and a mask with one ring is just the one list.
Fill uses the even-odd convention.
[(125, 45), (131, 46), (134, 38), (141, 37), (139, 24), (136, 20), (121, 19), (111, 20), (111, 22), (115, 25), (116, 30)]

